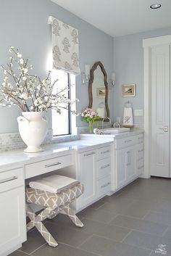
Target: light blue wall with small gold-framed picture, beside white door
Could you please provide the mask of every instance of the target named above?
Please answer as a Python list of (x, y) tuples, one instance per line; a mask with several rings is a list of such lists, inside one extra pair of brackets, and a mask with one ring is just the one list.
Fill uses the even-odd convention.
[[(114, 38), (114, 119), (122, 117), (126, 101), (133, 102), (133, 109), (143, 109), (143, 39), (171, 34), (171, 28), (136, 33)], [(122, 97), (121, 86), (136, 83), (135, 97)], [(136, 124), (143, 124), (143, 117), (135, 117)]]

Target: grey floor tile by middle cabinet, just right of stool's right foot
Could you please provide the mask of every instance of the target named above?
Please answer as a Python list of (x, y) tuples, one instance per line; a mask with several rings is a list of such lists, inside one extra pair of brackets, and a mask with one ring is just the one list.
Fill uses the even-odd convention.
[(86, 208), (81, 214), (81, 217), (88, 218), (90, 220), (96, 220), (101, 223), (109, 223), (116, 215), (113, 212), (109, 212), (99, 208), (98, 210), (90, 207)]

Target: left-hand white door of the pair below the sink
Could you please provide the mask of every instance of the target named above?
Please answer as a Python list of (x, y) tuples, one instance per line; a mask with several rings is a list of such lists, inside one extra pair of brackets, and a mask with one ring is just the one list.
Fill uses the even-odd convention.
[(119, 189), (126, 183), (125, 149), (116, 150), (116, 187)]

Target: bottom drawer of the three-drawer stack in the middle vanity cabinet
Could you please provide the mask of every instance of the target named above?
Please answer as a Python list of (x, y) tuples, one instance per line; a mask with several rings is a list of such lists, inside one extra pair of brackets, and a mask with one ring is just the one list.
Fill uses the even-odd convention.
[(98, 181), (98, 197), (106, 195), (111, 190), (111, 176), (101, 178)]

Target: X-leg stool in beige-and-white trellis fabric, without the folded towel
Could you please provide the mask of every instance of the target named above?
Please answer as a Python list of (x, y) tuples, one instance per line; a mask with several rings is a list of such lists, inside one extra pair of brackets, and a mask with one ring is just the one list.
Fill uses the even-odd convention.
[[(83, 185), (77, 183), (64, 191), (59, 193), (51, 193), (40, 189), (32, 189), (30, 186), (26, 187), (26, 212), (30, 222), (27, 224), (27, 230), (36, 226), (43, 238), (51, 247), (57, 247), (57, 241), (51, 236), (49, 231), (43, 225), (42, 221), (46, 218), (54, 218), (59, 212), (66, 214), (75, 223), (75, 226), (83, 227), (83, 223), (75, 215), (75, 212), (70, 208), (70, 203), (83, 194)], [(29, 203), (35, 203), (45, 207), (38, 215), (36, 215)]]

